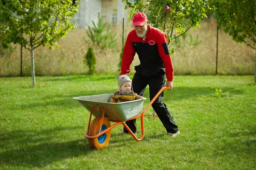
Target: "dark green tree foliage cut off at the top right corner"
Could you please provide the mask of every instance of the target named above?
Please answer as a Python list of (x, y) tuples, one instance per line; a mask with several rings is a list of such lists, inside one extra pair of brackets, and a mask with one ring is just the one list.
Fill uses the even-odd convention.
[[(212, 0), (218, 26), (236, 42), (256, 49), (256, 0)], [(254, 70), (256, 82), (256, 58)]]

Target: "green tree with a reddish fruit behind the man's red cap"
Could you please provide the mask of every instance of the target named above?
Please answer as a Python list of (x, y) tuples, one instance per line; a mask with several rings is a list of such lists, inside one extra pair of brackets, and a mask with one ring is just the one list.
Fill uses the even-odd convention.
[[(166, 32), (168, 44), (190, 28), (200, 27), (210, 8), (208, 0), (122, 0), (131, 8), (130, 18), (137, 12), (147, 14), (150, 24)], [(171, 53), (175, 51), (172, 48)]]

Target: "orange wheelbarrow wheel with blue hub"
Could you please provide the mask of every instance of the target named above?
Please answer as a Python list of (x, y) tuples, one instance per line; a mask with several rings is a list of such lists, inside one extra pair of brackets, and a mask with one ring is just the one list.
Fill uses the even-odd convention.
[[(94, 136), (99, 133), (99, 126), (101, 124), (101, 119), (102, 117), (96, 117), (95, 119), (93, 119), (93, 122), (91, 122), (90, 128), (88, 130), (88, 136)], [(108, 127), (110, 127), (110, 122), (108, 118), (104, 117), (101, 131), (107, 129)], [(89, 139), (89, 145), (90, 147), (97, 148), (97, 149), (102, 149), (104, 147), (107, 147), (108, 142), (110, 140), (110, 136), (111, 136), (111, 130), (102, 134), (98, 138)]]

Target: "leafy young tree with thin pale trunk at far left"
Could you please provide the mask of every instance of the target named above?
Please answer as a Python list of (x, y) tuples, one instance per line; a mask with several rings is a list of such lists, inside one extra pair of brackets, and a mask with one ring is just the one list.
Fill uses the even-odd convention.
[(0, 0), (0, 16), (7, 21), (0, 29), (3, 46), (18, 43), (31, 52), (32, 84), (35, 88), (34, 50), (40, 45), (59, 48), (57, 40), (76, 27), (70, 20), (79, 8), (72, 0)]

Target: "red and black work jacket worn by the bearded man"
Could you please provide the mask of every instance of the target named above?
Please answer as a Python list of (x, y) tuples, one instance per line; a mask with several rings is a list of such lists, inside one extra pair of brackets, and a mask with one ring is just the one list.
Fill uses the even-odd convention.
[(163, 31), (148, 25), (145, 41), (137, 36), (135, 30), (129, 32), (125, 42), (120, 75), (130, 72), (136, 53), (140, 59), (140, 65), (135, 66), (137, 72), (145, 76), (165, 73), (168, 81), (173, 80), (172, 59), (169, 54), (167, 36)]

